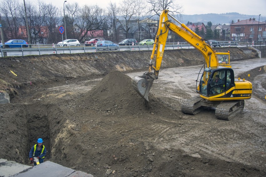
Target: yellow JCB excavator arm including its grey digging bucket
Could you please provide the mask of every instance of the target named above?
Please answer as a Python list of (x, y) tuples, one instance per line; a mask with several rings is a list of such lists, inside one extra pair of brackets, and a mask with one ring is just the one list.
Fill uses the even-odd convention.
[[(198, 36), (195, 32), (185, 26), (185, 24), (180, 23), (173, 16), (168, 14), (168, 12), (169, 10), (163, 10), (160, 14), (158, 31), (155, 37), (152, 55), (150, 56), (149, 71), (145, 72), (143, 76), (134, 76), (131, 80), (133, 88), (146, 101), (149, 101), (148, 94), (153, 84), (153, 80), (158, 79), (169, 30), (179, 35), (195, 49), (199, 50), (205, 59), (205, 65), (207, 68), (218, 66), (217, 55), (211, 46), (209, 46), (202, 37)], [(169, 21), (168, 16), (180, 23), (181, 27)], [(154, 69), (154, 72), (152, 72), (152, 69)]]

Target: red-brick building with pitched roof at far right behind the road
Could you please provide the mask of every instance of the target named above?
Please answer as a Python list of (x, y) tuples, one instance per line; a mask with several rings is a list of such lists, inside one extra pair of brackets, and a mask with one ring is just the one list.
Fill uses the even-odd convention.
[(265, 31), (265, 23), (258, 22), (255, 18), (237, 21), (231, 24), (231, 40), (234, 41), (258, 41), (262, 39)]

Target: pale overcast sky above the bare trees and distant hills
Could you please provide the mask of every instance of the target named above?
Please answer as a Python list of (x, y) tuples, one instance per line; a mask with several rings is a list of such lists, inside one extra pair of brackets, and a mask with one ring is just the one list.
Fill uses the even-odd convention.
[[(19, 0), (23, 2), (23, 0)], [(57, 7), (63, 7), (64, 0), (43, 0), (46, 3), (52, 3)], [(67, 0), (66, 3), (78, 2), (82, 5), (97, 4), (106, 8), (110, 2), (121, 3), (123, 0)], [(144, 0), (146, 2), (146, 0)], [(254, 15), (258, 18), (259, 14), (266, 17), (266, 0), (173, 0), (183, 8), (184, 15), (206, 14), (206, 13), (227, 13), (238, 12), (245, 15)], [(34, 3), (36, 0), (25, 0), (25, 2)], [(65, 3), (65, 5), (66, 5)], [(256, 17), (257, 16), (257, 17)], [(265, 18), (264, 18), (265, 20)]]

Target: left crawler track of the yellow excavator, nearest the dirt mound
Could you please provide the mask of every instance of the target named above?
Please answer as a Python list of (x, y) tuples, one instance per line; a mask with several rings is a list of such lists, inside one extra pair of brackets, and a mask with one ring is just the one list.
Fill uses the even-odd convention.
[(204, 107), (200, 105), (201, 100), (204, 99), (200, 98), (199, 96), (185, 100), (182, 102), (181, 111), (186, 114), (197, 114), (204, 109)]

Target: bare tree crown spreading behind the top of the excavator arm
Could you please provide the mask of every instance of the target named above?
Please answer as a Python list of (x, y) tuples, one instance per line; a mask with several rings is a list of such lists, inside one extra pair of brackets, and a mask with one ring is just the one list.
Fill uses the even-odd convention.
[(176, 5), (175, 0), (148, 0), (148, 4), (150, 4), (150, 12), (158, 16), (165, 9), (169, 9), (169, 12), (175, 15), (180, 15), (182, 12), (182, 7)]

